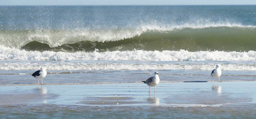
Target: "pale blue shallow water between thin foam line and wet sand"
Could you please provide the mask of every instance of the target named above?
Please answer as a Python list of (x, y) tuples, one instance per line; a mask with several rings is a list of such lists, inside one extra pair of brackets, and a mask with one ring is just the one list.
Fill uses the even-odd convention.
[[(210, 81), (211, 71), (197, 70), (157, 70), (160, 74), (160, 82), (195, 82)], [(31, 76), (31, 71), (3, 71), (8, 75), (0, 75), (1, 83), (4, 84), (35, 84), (37, 79)], [(50, 73), (49, 73), (50, 72)], [(15, 73), (15, 74), (12, 74)], [(21, 73), (21, 74), (19, 74)], [(120, 83), (120, 82), (141, 82), (153, 76), (154, 70), (65, 70), (48, 71), (43, 78), (46, 84), (75, 84), (75, 83)], [(255, 81), (255, 71), (222, 71), (221, 82), (227, 81)], [(228, 74), (228, 75), (227, 75)], [(214, 79), (218, 81), (217, 78)]]

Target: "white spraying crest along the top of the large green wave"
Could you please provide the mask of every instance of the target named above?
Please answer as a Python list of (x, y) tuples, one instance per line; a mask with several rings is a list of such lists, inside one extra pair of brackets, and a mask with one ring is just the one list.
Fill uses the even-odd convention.
[[(1, 30), (0, 31), (0, 45), (21, 48), (29, 42), (38, 41), (41, 43), (48, 44), (50, 48), (62, 46), (64, 44), (74, 44), (80, 41), (90, 42), (110, 42), (120, 41), (123, 39), (131, 39), (136, 36), (140, 36), (145, 32), (175, 32), (185, 30), (181, 32), (181, 35), (186, 34), (190, 31), (186, 29), (210, 29), (210, 28), (234, 28), (250, 31), (255, 31), (255, 26), (243, 26), (241, 24), (232, 24), (229, 22), (224, 23), (205, 23), (205, 24), (182, 24), (182, 25), (142, 25), (135, 29), (41, 29), (41, 30)], [(215, 29), (216, 30), (216, 29)], [(202, 32), (202, 31), (201, 31)], [(210, 31), (209, 33), (214, 32)], [(222, 32), (222, 31), (221, 31)], [(192, 32), (193, 33), (193, 32)], [(204, 33), (203, 33), (204, 34)], [(173, 35), (173, 34), (171, 34)], [(218, 36), (218, 34), (216, 34)], [(146, 37), (142, 38), (145, 39)], [(161, 39), (161, 37), (157, 37)], [(190, 37), (186, 37), (189, 39)], [(33, 49), (32, 49), (33, 50)]]

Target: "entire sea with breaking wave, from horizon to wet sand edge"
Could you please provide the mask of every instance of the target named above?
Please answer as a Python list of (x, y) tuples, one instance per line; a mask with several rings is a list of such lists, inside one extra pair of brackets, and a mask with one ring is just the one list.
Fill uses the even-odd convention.
[(207, 81), (216, 64), (255, 81), (255, 5), (0, 6), (1, 84), (40, 66), (45, 83)]

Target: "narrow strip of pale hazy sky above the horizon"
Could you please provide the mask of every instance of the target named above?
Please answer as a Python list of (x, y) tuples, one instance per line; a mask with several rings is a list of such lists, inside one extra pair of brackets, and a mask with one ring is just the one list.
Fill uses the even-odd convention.
[(0, 5), (256, 5), (256, 0), (0, 0)]

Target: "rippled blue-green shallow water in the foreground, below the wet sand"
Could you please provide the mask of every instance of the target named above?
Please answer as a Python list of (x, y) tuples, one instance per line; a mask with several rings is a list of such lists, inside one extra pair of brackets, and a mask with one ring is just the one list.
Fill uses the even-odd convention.
[[(235, 105), (230, 107), (161, 107), (161, 106), (130, 106), (130, 107), (99, 107), (70, 105), (15, 105), (0, 106), (2, 118), (182, 118), (182, 119), (253, 119), (255, 104)], [(8, 110), (6, 110), (8, 108)], [(254, 111), (254, 112), (253, 112)], [(8, 113), (8, 114), (7, 114)]]

